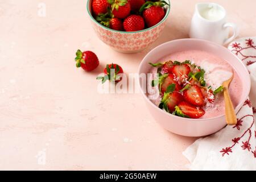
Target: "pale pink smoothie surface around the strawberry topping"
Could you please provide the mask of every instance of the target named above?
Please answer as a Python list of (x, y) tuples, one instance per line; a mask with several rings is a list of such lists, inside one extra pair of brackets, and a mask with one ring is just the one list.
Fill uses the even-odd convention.
[[(185, 61), (190, 60), (192, 64), (196, 64), (205, 70), (205, 81), (206, 86), (212, 86), (212, 89), (217, 89), (222, 85), (222, 82), (232, 77), (232, 66), (225, 60), (221, 59), (216, 55), (212, 55), (208, 52), (199, 50), (189, 50), (172, 53), (162, 59), (158, 60), (157, 63), (164, 63), (168, 60), (172, 61)], [(150, 73), (156, 73), (156, 68), (152, 68)], [(156, 74), (153, 76), (155, 79)], [(159, 105), (161, 97), (158, 91), (158, 86), (151, 88), (149, 91), (150, 100), (155, 104)], [(232, 98), (233, 105), (236, 107), (241, 101), (242, 82), (237, 72), (234, 71), (234, 78), (229, 86), (230, 97)], [(154, 97), (152, 97), (154, 95)], [(203, 109), (205, 114), (201, 119), (214, 118), (225, 113), (224, 96), (222, 93), (217, 94), (213, 104), (207, 103)]]

